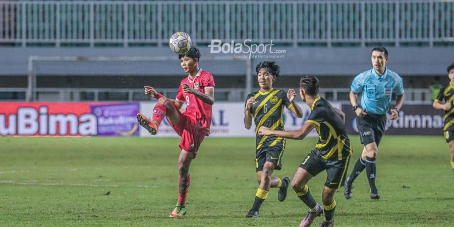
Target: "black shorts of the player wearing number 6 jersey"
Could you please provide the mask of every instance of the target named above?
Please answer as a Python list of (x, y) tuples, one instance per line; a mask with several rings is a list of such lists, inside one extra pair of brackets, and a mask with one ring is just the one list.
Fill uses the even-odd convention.
[(265, 162), (270, 161), (276, 164), (274, 169), (279, 170), (282, 167), (283, 146), (276, 144), (272, 147), (262, 147), (255, 152), (255, 168), (256, 171), (262, 171)]

